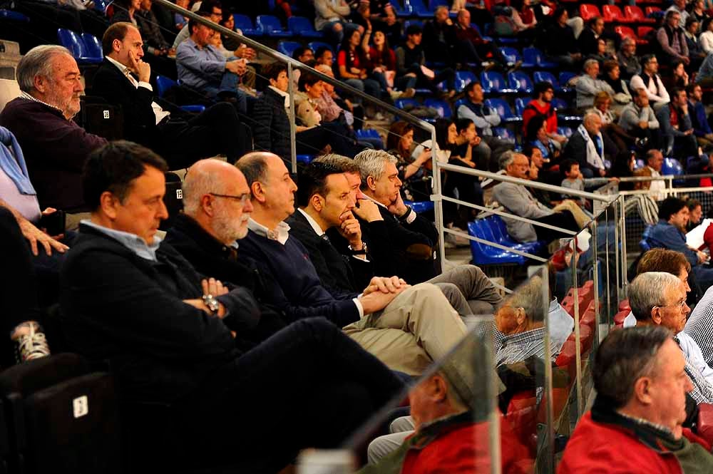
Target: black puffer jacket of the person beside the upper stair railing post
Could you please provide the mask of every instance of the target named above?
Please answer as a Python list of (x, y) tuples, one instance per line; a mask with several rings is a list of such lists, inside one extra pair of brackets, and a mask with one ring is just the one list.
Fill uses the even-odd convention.
[(255, 150), (267, 150), (280, 158), (291, 155), (289, 143), (289, 120), (284, 110), (284, 97), (271, 88), (266, 88), (255, 102), (252, 136)]

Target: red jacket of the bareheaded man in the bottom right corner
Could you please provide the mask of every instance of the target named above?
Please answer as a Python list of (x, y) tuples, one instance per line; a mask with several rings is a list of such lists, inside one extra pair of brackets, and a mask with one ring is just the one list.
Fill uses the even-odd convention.
[[(707, 450), (710, 446), (685, 429), (692, 443)], [(673, 453), (657, 453), (635, 438), (626, 428), (592, 420), (591, 412), (582, 417), (567, 443), (558, 474), (682, 474)]]

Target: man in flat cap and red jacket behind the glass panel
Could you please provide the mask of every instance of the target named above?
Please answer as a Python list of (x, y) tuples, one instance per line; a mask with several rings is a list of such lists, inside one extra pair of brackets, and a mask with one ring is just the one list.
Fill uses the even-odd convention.
[[(411, 416), (391, 426), (406, 431), (380, 436), (369, 445), (369, 465), (357, 474), (488, 472), (488, 373), (485, 348), (478, 337), (467, 338), (438, 371), (411, 389)], [(456, 360), (467, 361), (456, 363)], [(498, 381), (499, 382), (499, 381)], [(498, 416), (501, 465), (506, 474), (532, 470), (528, 451), (515, 436), (511, 423)]]

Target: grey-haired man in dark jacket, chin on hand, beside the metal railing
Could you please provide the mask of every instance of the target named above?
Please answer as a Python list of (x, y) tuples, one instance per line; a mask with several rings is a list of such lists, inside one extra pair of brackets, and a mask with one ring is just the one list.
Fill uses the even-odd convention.
[[(436, 276), (436, 226), (404, 204), (396, 158), (383, 150), (364, 150), (354, 157), (361, 173), (361, 192), (379, 207), (391, 252), (376, 262), (376, 274), (397, 274), (410, 283)], [(361, 217), (357, 212), (357, 217)], [(366, 227), (362, 220), (361, 227)], [(370, 237), (373, 243), (376, 237)]]

